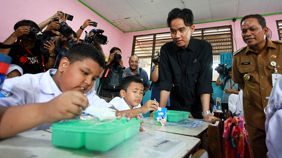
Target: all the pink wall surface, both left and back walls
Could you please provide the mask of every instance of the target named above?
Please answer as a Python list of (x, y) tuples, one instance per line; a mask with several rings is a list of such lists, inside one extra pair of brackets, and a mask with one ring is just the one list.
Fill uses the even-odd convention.
[[(14, 31), (14, 24), (23, 19), (28, 19), (36, 23), (40, 23), (54, 15), (57, 10), (61, 10), (74, 16), (73, 21), (67, 21), (67, 23), (73, 28), (74, 31), (77, 31), (79, 27), (83, 24), (83, 22), (87, 18), (90, 18), (91, 20), (98, 22), (97, 28), (104, 30), (105, 32), (103, 33), (103, 35), (108, 37), (109, 43), (107, 45), (103, 45), (105, 55), (109, 55), (109, 50), (112, 47), (119, 47), (122, 50), (123, 64), (126, 67), (128, 67), (128, 58), (131, 55), (133, 36), (170, 31), (169, 28), (161, 28), (147, 31), (123, 33), (118, 28), (109, 24), (103, 18), (98, 16), (95, 12), (91, 11), (89, 8), (85, 7), (83, 4), (76, 0), (1, 1), (0, 10), (2, 11), (0, 15), (0, 42), (3, 42), (8, 36), (10, 36)], [(282, 15), (266, 16), (265, 19), (267, 26), (272, 31), (271, 40), (279, 40), (275, 20), (281, 20)], [(237, 49), (246, 45), (241, 37), (240, 20), (237, 20), (235, 23), (231, 20), (227, 20), (221, 22), (196, 24), (195, 26), (196, 28), (204, 28), (224, 25), (232, 25), (233, 35), (237, 42)], [(85, 30), (89, 32), (92, 28), (94, 27), (88, 26)], [(85, 33), (81, 35), (81, 38), (84, 38), (84, 36)], [(235, 42), (233, 43), (234, 50), (236, 50)]]

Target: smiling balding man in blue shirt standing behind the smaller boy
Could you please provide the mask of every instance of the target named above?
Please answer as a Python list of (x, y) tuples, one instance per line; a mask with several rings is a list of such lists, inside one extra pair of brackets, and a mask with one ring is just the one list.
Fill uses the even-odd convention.
[[(125, 73), (127, 74), (127, 76), (137, 76), (140, 77), (144, 83), (144, 94), (145, 92), (148, 91), (149, 87), (150, 87), (150, 82), (149, 82), (149, 77), (147, 72), (144, 69), (141, 69), (140, 72), (140, 68), (138, 67), (139, 65), (139, 57), (137, 55), (132, 55), (129, 58), (128, 61), (129, 67), (125, 69)], [(143, 95), (144, 95), (143, 94)], [(143, 105), (143, 100), (141, 102), (141, 106)]]

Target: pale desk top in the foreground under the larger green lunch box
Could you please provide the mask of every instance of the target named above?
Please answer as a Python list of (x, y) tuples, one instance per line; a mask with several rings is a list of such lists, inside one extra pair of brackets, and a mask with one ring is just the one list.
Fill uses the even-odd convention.
[[(176, 153), (173, 157), (189, 156), (191, 152), (195, 148), (197, 148), (197, 146), (199, 146), (201, 142), (200, 139), (195, 137), (181, 136), (172, 133), (155, 131), (147, 128), (145, 128), (145, 130), (147, 133), (150, 134), (155, 134), (158, 136), (165, 136), (165, 137), (170, 137), (170, 138), (185, 141), (186, 146), (182, 148), (178, 153)], [(118, 157), (118, 156), (109, 156), (107, 153), (114, 148), (106, 152), (89, 151), (86, 150), (84, 147), (80, 149), (69, 149), (69, 148), (53, 146), (51, 140), (52, 140), (51, 130), (19, 133), (14, 137), (0, 141), (0, 157), (2, 158), (5, 157), (7, 158), (11, 158), (11, 157), (68, 157), (68, 158)], [(138, 147), (134, 148), (134, 150), (135, 149), (138, 151)], [(121, 152), (127, 153), (126, 151), (120, 151), (119, 154)], [(124, 155), (122, 157), (133, 157), (133, 156)]]

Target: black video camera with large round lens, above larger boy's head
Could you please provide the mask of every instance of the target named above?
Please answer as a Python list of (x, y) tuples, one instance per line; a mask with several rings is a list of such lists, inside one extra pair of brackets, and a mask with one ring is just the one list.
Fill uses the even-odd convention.
[[(85, 31), (86, 32), (86, 31)], [(107, 41), (107, 36), (102, 35), (104, 30), (101, 29), (92, 29), (89, 33), (86, 32), (85, 38), (82, 42), (85, 43), (99, 43), (101, 45), (106, 45), (109, 41)], [(93, 36), (90, 36), (90, 34), (93, 33)]]

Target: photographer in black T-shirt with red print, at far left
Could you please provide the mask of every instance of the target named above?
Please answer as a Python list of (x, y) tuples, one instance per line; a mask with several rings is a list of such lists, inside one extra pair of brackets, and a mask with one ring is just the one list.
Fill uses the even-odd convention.
[[(0, 49), (0, 51), (12, 57), (12, 64), (19, 65), (24, 74), (37, 74), (52, 68), (55, 60), (53, 41), (46, 41), (49, 45), (47, 54), (40, 51), (40, 44), (43, 42), (43, 32), (39, 26), (30, 20), (22, 20), (14, 25), (14, 32), (3, 42), (6, 45), (13, 45), (12, 48)], [(17, 40), (17, 41), (16, 41)], [(17, 43), (14, 43), (14, 42)]]

